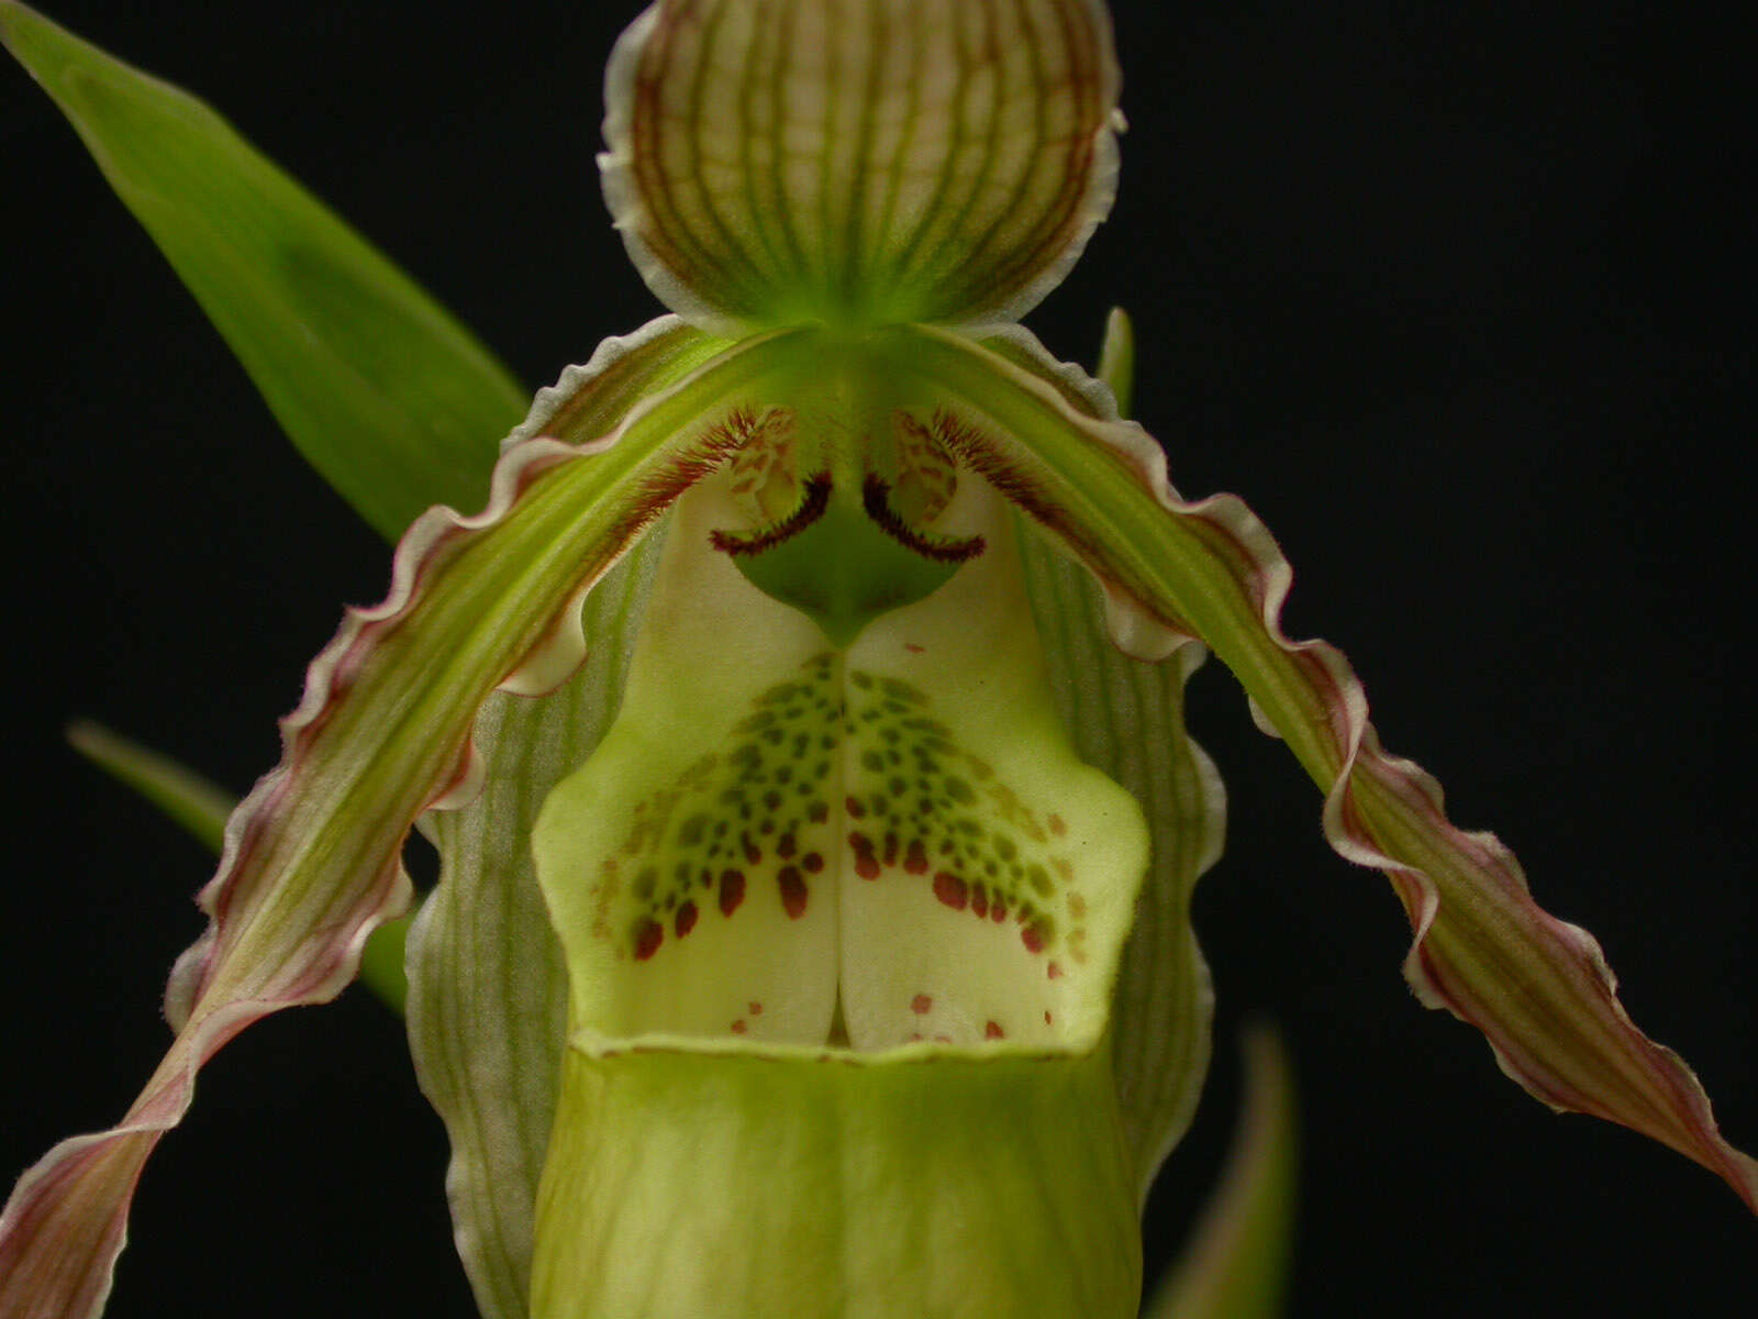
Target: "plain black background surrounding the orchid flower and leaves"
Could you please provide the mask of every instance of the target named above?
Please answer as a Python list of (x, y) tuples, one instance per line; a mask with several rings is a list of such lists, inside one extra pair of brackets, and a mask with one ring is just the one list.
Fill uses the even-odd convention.
[[(1122, 199), (1028, 324), (1090, 361), (1109, 302), (1136, 313), (1137, 415), (1174, 480), (1252, 501), (1299, 573), (1290, 635), (1348, 651), (1387, 744), (1600, 936), (1635, 1018), (1758, 1147), (1732, 33), (1642, 5), (1331, 9), (1122, 9)], [(635, 4), (51, 12), (218, 106), (533, 387), (657, 311), (591, 160)], [(62, 723), (246, 788), (389, 554), (11, 67), (0, 157), (5, 1182), (146, 1078), (211, 865)], [(1385, 881), (1324, 848), (1317, 795), (1231, 679), (1202, 674), (1194, 703), (1232, 797), (1195, 907), (1218, 1066), (1150, 1266), (1215, 1175), (1231, 1041), (1259, 1015), (1301, 1085), (1297, 1314), (1737, 1314), (1714, 1298), (1749, 1296), (1739, 1201), (1551, 1115), (1419, 1009)], [(364, 992), (271, 1018), (151, 1164), (111, 1314), (471, 1314), (441, 1173), (399, 1025)]]

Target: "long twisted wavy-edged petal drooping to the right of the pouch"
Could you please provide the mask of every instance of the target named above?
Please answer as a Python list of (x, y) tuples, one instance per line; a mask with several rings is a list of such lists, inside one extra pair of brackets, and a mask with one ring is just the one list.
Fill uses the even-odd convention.
[(1392, 879), (1415, 932), (1405, 976), (1417, 995), (1484, 1031), (1538, 1099), (1670, 1145), (1758, 1210), (1758, 1162), (1721, 1138), (1682, 1060), (1630, 1022), (1593, 937), (1540, 909), (1512, 853), (1456, 828), (1440, 786), (1382, 751), (1334, 647), (1282, 635), (1292, 573), (1250, 510), (1232, 496), (1183, 501), (1141, 427), (1083, 415), (1050, 373), (926, 327), (893, 338), (900, 361), (956, 401), (960, 461), (1106, 584), (1120, 644), (1155, 654), (1195, 635), (1234, 670), (1324, 788), (1333, 848)]

